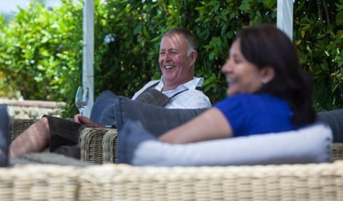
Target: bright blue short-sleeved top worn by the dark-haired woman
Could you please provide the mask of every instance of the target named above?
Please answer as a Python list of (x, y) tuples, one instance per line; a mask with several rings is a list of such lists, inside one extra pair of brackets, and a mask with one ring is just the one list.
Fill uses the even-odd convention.
[(289, 105), (268, 94), (238, 94), (215, 104), (227, 118), (234, 136), (294, 130)]

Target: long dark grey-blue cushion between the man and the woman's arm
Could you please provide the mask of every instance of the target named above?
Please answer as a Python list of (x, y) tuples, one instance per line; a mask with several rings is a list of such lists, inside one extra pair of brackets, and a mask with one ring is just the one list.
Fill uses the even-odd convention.
[(151, 134), (159, 136), (198, 116), (207, 108), (201, 109), (166, 109), (153, 106), (126, 97), (117, 96), (115, 102), (115, 119), (118, 132), (128, 121), (138, 121)]

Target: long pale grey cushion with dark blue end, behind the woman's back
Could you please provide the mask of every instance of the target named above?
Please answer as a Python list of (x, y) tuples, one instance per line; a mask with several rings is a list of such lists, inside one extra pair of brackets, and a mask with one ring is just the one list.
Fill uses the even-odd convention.
[(168, 144), (130, 122), (119, 134), (117, 161), (138, 166), (320, 163), (331, 160), (331, 143), (331, 129), (323, 124), (277, 134)]

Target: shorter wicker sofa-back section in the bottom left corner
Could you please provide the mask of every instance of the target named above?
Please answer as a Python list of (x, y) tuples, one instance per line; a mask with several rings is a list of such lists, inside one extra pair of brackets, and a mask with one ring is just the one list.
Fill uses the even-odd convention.
[(0, 168), (0, 200), (75, 201), (79, 173), (74, 167), (56, 165)]

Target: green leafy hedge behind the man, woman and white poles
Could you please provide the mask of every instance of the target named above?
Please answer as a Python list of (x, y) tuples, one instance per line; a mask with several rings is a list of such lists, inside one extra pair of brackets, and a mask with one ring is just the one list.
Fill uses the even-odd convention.
[[(10, 21), (0, 17), (0, 96), (66, 101), (76, 113), (81, 84), (82, 1), (47, 9), (38, 0)], [(276, 0), (94, 0), (95, 97), (103, 90), (132, 96), (161, 76), (161, 35), (184, 27), (197, 39), (196, 76), (212, 102), (225, 97), (220, 73), (241, 27), (276, 23)], [(317, 111), (342, 108), (343, 0), (296, 0), (293, 41), (315, 83)], [(104, 39), (115, 34), (115, 40)]]

